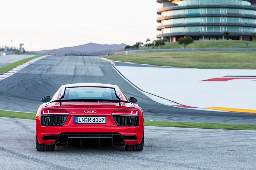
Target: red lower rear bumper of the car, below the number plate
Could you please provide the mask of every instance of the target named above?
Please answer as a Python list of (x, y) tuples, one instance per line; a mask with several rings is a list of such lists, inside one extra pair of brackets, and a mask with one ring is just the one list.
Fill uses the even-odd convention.
[[(67, 135), (68, 138), (106, 138), (107, 135), (119, 135), (125, 145), (140, 144), (144, 132), (143, 120), (140, 119), (139, 126), (126, 127), (115, 125), (64, 125), (64, 126), (42, 126), (41, 117), (36, 118), (36, 135), (40, 144), (55, 145), (60, 135)], [(57, 135), (56, 140), (45, 140), (45, 135)], [(79, 136), (80, 135), (80, 136)], [(86, 137), (87, 135), (87, 137)], [(91, 135), (91, 136), (90, 136)], [(93, 136), (94, 135), (94, 136)], [(136, 136), (137, 140), (131, 140), (128, 136)], [(105, 137), (104, 137), (105, 136)], [(110, 137), (109, 137), (110, 138)], [(128, 139), (128, 140), (127, 140)], [(135, 138), (132, 138), (135, 139)]]

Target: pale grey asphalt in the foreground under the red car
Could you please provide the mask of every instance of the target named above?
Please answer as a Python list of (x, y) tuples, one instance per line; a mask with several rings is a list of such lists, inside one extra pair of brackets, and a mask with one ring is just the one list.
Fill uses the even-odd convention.
[(67, 146), (37, 152), (35, 121), (0, 117), (0, 169), (255, 170), (256, 131), (145, 127), (142, 152)]

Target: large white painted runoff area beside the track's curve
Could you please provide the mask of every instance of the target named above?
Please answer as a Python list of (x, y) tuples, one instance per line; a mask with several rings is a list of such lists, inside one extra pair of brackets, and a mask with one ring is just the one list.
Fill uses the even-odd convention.
[[(256, 109), (256, 79), (202, 81), (224, 76), (256, 76), (256, 70), (115, 67), (140, 89), (182, 105)], [(153, 100), (165, 104), (158, 97)]]

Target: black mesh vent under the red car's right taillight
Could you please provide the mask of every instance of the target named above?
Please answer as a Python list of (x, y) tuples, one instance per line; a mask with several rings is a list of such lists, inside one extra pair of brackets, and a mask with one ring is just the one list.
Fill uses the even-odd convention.
[(138, 126), (139, 117), (113, 116), (117, 126)]

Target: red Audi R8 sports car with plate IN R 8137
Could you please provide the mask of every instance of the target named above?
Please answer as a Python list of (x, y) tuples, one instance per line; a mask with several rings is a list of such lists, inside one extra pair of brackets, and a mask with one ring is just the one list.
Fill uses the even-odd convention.
[(36, 113), (36, 149), (54, 151), (55, 145), (125, 145), (142, 151), (144, 117), (137, 100), (115, 85), (67, 84), (51, 99), (42, 98)]

